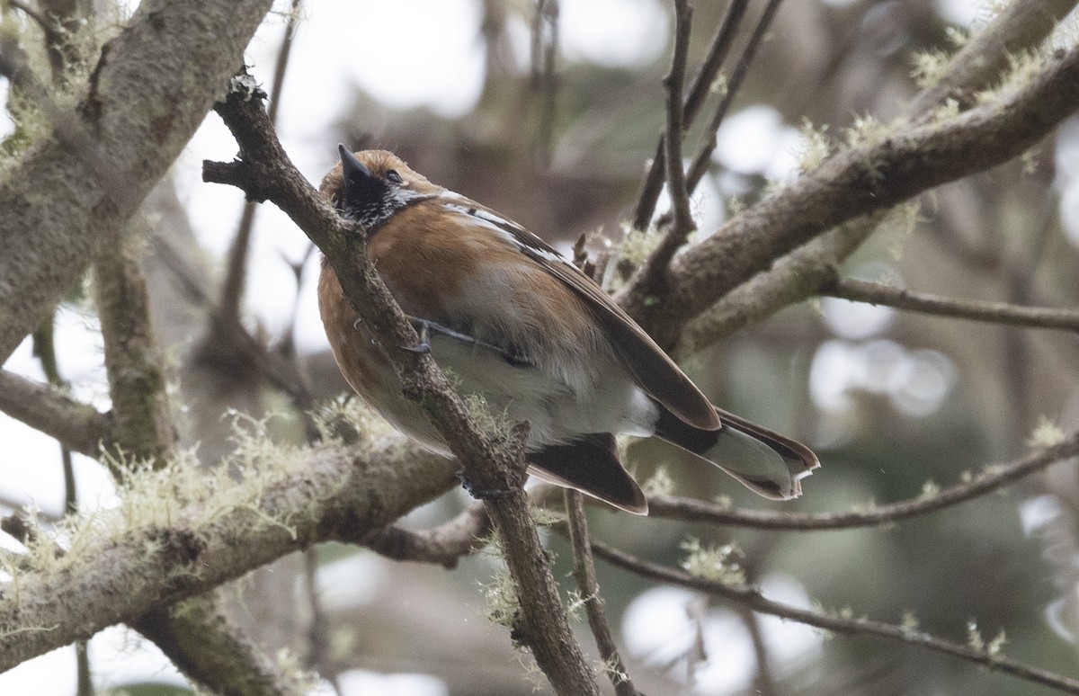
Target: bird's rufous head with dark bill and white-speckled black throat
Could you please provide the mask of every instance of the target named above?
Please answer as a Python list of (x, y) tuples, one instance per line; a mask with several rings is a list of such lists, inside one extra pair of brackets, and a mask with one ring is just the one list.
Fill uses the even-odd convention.
[(341, 162), (330, 169), (318, 192), (338, 213), (371, 230), (405, 206), (445, 192), (386, 150), (350, 152), (338, 146)]

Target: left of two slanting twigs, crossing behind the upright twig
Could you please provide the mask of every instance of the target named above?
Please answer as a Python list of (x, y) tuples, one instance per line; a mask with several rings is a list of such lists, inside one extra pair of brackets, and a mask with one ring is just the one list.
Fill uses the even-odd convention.
[[(727, 57), (727, 53), (734, 44), (734, 37), (737, 33), (738, 26), (741, 24), (742, 16), (746, 14), (747, 6), (749, 6), (749, 0), (733, 0), (727, 5), (727, 12), (723, 16), (723, 22), (720, 23), (715, 38), (712, 39), (708, 56), (697, 72), (697, 77), (694, 78), (693, 85), (689, 87), (689, 95), (685, 99), (683, 114), (683, 126), (685, 129), (688, 129), (693, 125), (694, 120), (700, 112), (700, 108), (705, 105), (706, 97), (712, 91), (723, 60)], [(659, 200), (659, 193), (664, 188), (664, 153), (666, 152), (666, 148), (664, 136), (660, 135), (659, 142), (656, 145), (656, 153), (652, 158), (652, 165), (644, 177), (644, 183), (641, 186), (641, 194), (638, 196), (637, 206), (633, 208), (632, 219), (634, 230), (648, 229), (652, 215), (656, 211), (656, 201)]]

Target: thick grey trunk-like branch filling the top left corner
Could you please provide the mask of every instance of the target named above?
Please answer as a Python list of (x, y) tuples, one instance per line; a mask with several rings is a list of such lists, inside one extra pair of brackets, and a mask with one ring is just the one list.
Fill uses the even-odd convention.
[[(243, 62), (272, 4), (139, 4), (103, 49), (78, 113), (67, 113), (74, 125), (53, 119), (54, 139), (28, 150), (5, 173), (0, 363), (74, 285), (176, 160)], [(86, 138), (94, 147), (76, 147)]]

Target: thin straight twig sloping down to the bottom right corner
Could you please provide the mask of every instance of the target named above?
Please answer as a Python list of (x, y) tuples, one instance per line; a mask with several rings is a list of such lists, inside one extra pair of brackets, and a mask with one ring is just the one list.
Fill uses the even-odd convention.
[(918, 645), (980, 665), (992, 671), (1011, 674), (1027, 682), (1042, 684), (1067, 694), (1079, 694), (1079, 681), (1005, 657), (992, 650), (976, 650), (967, 644), (937, 638), (914, 627), (909, 628), (865, 618), (830, 616), (816, 611), (791, 606), (790, 604), (783, 604), (765, 598), (760, 590), (753, 587), (747, 585), (725, 585), (695, 577), (688, 573), (641, 560), (596, 541), (592, 542), (592, 551), (609, 563), (642, 577), (708, 592), (737, 602), (762, 614), (779, 616), (837, 633), (877, 636), (909, 645)]

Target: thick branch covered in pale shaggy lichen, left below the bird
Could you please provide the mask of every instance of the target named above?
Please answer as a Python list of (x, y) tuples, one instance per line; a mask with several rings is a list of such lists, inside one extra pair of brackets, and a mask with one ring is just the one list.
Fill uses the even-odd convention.
[[(197, 478), (186, 494), (182, 463), (134, 476), (124, 504), (86, 521), (63, 558), (41, 559), (3, 584), (0, 671), (311, 544), (382, 529), (456, 482), (452, 462), (396, 441), (276, 459), (235, 482), (188, 466)], [(166, 485), (161, 476), (169, 499), (151, 488)]]

